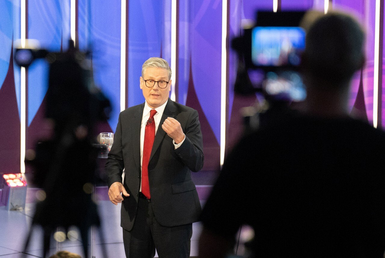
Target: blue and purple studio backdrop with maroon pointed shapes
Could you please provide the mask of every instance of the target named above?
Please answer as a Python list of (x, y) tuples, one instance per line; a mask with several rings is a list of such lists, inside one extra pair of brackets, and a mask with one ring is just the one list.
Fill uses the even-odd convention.
[[(70, 38), (70, 1), (27, 0), (27, 38), (41, 47), (65, 50)], [(228, 40), (241, 32), (241, 20), (253, 19), (257, 9), (272, 10), (273, 0), (228, 1)], [(281, 0), (281, 10), (323, 10), (323, 0)], [(139, 88), (142, 63), (153, 56), (171, 62), (171, 0), (127, 0), (126, 107), (144, 102)], [(372, 123), (375, 0), (333, 0), (331, 7), (353, 13), (367, 31), (367, 62), (354, 77), (352, 112)], [(0, 0), (0, 133), (8, 142), (0, 148), (0, 173), (20, 172), (20, 68), (13, 63), (13, 40), (20, 38), (20, 1)], [(383, 13), (383, 12), (382, 12)], [(114, 132), (120, 112), (121, 1), (77, 0), (77, 43), (93, 51), (96, 84), (112, 102), (112, 116), (99, 125)], [(205, 165), (198, 184), (211, 184), (219, 168), (221, 112), (221, 0), (177, 1), (176, 101), (198, 110), (203, 132)], [(383, 24), (380, 26), (383, 30)], [(383, 42), (383, 39), (380, 39)], [(228, 44), (229, 45), (229, 44)], [(380, 58), (383, 58), (382, 52)], [(226, 149), (241, 132), (239, 111), (258, 101), (235, 96), (232, 86), (236, 56), (228, 49)], [(33, 148), (44, 130), (47, 63), (37, 61), (27, 71), (26, 149)], [(382, 85), (380, 85), (382, 87)], [(382, 91), (385, 92), (385, 91)], [(381, 98), (384, 101), (384, 97)], [(379, 118), (385, 123), (384, 105)], [(200, 174), (200, 175), (199, 175)], [(196, 182), (197, 183), (197, 182)]]

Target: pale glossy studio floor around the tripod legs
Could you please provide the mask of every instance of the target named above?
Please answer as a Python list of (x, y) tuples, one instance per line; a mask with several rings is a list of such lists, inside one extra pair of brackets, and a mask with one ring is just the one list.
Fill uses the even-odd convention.
[[(201, 201), (203, 202), (203, 201)], [(110, 258), (125, 258), (122, 228), (120, 227), (120, 208), (121, 204), (115, 206), (110, 201), (101, 200), (99, 204), (99, 214), (102, 218), (102, 232), (104, 241), (100, 241), (97, 234), (95, 234), (94, 252), (95, 258), (104, 258), (102, 255), (101, 246), (105, 246), (108, 257)], [(32, 216), (34, 213), (34, 204), (27, 203), (25, 210), (22, 211), (8, 211), (6, 206), (0, 207), (0, 258), (21, 258), (25, 243), (25, 238), (30, 230)], [(191, 238), (191, 255), (198, 254), (198, 238), (201, 232), (201, 224), (194, 223), (192, 225), (193, 233)], [(35, 228), (33, 230), (32, 238), (25, 252), (25, 258), (43, 257), (42, 245), (42, 230)], [(53, 255), (59, 250), (67, 250), (78, 253), (84, 257), (82, 252), (82, 243), (79, 240), (66, 240), (59, 243), (52, 239), (49, 256)], [(91, 244), (89, 246), (91, 252)], [(47, 256), (47, 257), (49, 257)], [(91, 255), (89, 255), (91, 256)], [(155, 257), (158, 257), (157, 255)]]

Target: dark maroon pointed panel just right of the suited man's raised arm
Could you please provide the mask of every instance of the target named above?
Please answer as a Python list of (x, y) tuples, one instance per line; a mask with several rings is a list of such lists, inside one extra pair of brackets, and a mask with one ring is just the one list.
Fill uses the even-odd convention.
[[(219, 159), (220, 159), (220, 147), (216, 140), (213, 129), (203, 112), (201, 104), (199, 103), (198, 96), (195, 91), (194, 81), (192, 79), (192, 68), (190, 61), (190, 74), (189, 74), (189, 86), (187, 90), (186, 106), (194, 108), (198, 111), (199, 122), (201, 123), (201, 131), (203, 134), (203, 154), (204, 154), (204, 165), (202, 170), (218, 170)], [(218, 111), (219, 115), (219, 111)]]

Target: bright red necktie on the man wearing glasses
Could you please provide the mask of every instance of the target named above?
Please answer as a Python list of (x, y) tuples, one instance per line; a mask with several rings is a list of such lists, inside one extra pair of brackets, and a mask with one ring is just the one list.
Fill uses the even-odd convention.
[(150, 195), (150, 184), (148, 182), (148, 162), (150, 161), (150, 155), (152, 150), (152, 145), (154, 144), (155, 139), (155, 121), (154, 115), (156, 110), (152, 109), (150, 111), (150, 118), (146, 122), (146, 128), (144, 130), (144, 143), (143, 143), (143, 159), (142, 159), (142, 194), (148, 199), (151, 198)]

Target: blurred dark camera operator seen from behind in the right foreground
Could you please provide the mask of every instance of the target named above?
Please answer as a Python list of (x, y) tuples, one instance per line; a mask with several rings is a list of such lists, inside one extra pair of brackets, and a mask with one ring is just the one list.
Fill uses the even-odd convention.
[(224, 257), (242, 224), (255, 231), (258, 258), (383, 257), (385, 133), (348, 108), (365, 33), (345, 13), (304, 19), (305, 110), (245, 136), (228, 155), (203, 209), (201, 258)]

